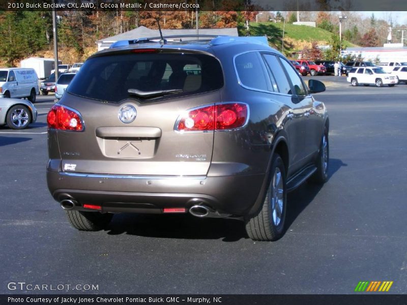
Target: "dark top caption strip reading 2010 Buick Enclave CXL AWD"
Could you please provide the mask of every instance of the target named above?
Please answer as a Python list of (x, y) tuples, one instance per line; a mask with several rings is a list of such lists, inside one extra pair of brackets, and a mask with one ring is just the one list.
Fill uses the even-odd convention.
[(407, 11), (406, 0), (2, 0), (0, 11)]

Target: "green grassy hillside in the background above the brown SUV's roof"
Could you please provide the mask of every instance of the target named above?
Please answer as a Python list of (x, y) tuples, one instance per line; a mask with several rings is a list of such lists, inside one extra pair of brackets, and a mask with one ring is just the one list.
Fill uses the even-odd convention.
[[(282, 22), (258, 22), (250, 23), (250, 35), (269, 37), (269, 43), (276, 49), (281, 50), (283, 36)], [(300, 51), (304, 47), (310, 47), (312, 41), (317, 41), (319, 45), (329, 45), (332, 33), (319, 27), (307, 25), (285, 24), (284, 28), (284, 52), (290, 53)], [(346, 47), (355, 46), (354, 44), (343, 40)]]

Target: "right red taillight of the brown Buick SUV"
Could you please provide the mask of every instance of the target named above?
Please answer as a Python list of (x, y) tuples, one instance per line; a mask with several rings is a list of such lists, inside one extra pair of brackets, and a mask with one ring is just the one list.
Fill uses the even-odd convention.
[(210, 131), (236, 129), (244, 126), (248, 106), (243, 103), (226, 103), (202, 106), (189, 110), (176, 124), (177, 131)]

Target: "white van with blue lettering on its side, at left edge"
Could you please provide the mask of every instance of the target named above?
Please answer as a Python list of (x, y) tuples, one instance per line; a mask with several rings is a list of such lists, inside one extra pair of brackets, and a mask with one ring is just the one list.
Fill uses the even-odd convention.
[(28, 98), (35, 103), (39, 93), (34, 69), (0, 68), (0, 98)]

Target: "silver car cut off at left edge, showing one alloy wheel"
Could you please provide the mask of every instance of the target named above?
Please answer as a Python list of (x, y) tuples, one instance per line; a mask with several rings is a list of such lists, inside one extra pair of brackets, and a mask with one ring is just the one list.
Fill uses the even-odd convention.
[(0, 126), (24, 129), (37, 120), (37, 108), (28, 100), (0, 99)]

